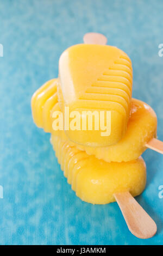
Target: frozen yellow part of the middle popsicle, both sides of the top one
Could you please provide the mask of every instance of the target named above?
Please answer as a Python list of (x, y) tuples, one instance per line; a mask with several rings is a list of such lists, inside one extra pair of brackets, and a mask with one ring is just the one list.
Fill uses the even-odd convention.
[[(51, 93), (49, 93), (49, 90)], [(56, 91), (57, 80), (45, 83), (36, 91), (32, 97), (33, 118), (36, 125), (42, 127), (46, 132), (51, 132), (63, 139), (67, 139), (64, 131), (54, 131), (52, 129), (54, 120), (52, 113), (60, 111)], [(78, 149), (86, 151), (87, 154), (95, 155), (98, 159), (103, 159), (106, 162), (127, 162), (137, 159), (143, 153), (146, 149), (146, 143), (156, 136), (156, 127), (157, 119), (153, 109), (145, 102), (132, 99), (131, 116), (127, 131), (117, 144), (109, 147), (91, 148), (73, 144), (73, 142), (70, 143), (76, 145)]]

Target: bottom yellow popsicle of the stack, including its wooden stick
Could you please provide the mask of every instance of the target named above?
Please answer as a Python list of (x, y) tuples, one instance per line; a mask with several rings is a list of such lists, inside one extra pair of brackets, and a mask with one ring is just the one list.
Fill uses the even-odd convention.
[(92, 204), (116, 200), (132, 234), (147, 239), (156, 233), (155, 222), (133, 198), (146, 185), (146, 164), (142, 157), (108, 163), (72, 147), (60, 137), (52, 135), (51, 143), (68, 183), (79, 198)]

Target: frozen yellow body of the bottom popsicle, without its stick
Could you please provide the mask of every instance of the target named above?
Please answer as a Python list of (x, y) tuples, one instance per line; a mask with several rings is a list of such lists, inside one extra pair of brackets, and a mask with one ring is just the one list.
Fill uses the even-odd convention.
[(146, 185), (146, 164), (142, 157), (130, 162), (105, 162), (52, 135), (51, 143), (67, 181), (77, 196), (87, 203), (108, 204), (114, 193), (129, 191), (139, 195)]

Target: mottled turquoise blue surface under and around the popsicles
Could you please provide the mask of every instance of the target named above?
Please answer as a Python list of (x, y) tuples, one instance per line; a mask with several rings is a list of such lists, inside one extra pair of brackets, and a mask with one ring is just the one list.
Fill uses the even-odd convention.
[(0, 1), (0, 244), (160, 245), (163, 244), (163, 156), (146, 150), (147, 187), (136, 199), (158, 225), (148, 240), (134, 237), (117, 203), (91, 205), (76, 197), (60, 170), (49, 134), (32, 120), (30, 99), (57, 77), (58, 60), (86, 32), (100, 32), (108, 44), (133, 61), (133, 96), (158, 115), (163, 140), (163, 57), (160, 1)]

